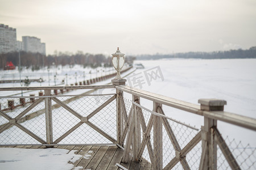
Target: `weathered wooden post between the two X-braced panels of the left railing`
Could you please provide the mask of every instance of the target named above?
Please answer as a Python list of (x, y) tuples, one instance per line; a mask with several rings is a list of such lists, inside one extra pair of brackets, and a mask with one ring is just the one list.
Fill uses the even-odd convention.
[[(51, 95), (51, 90), (44, 90), (45, 96)], [(46, 97), (46, 143), (52, 144), (53, 143), (53, 131), (52, 131), (52, 99), (51, 97)]]

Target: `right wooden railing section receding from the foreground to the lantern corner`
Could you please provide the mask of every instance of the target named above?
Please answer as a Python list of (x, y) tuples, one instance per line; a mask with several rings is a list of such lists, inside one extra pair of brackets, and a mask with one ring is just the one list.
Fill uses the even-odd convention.
[[(115, 88), (117, 89), (118, 105), (124, 107), (126, 105), (123, 100), (123, 92), (132, 95), (130, 113), (127, 114), (127, 108), (119, 108), (117, 110), (117, 117), (119, 118), (117, 141), (119, 145), (123, 145), (123, 139), (127, 136), (123, 162), (127, 162), (130, 152), (133, 154), (135, 161), (140, 161), (142, 159), (142, 152), (147, 146), (150, 158), (148, 161), (151, 162), (153, 169), (172, 169), (179, 162), (183, 169), (191, 169), (186, 156), (189, 151), (202, 141), (200, 164), (196, 169), (217, 169), (217, 145), (220, 147), (229, 167), (232, 169), (241, 169), (241, 163), (239, 164), (234, 158), (228, 144), (221, 136), (217, 128), (217, 121), (228, 122), (229, 124), (256, 131), (256, 120), (254, 118), (225, 112), (225, 100), (200, 99), (200, 105), (197, 105), (125, 85), (116, 86)], [(140, 104), (141, 99), (152, 101), (152, 111), (144, 108)], [(180, 147), (181, 141), (176, 138), (173, 127), (168, 122), (169, 120), (175, 120), (165, 116), (163, 105), (204, 116), (204, 125), (201, 130), (183, 148)], [(147, 124), (145, 123), (144, 111), (151, 113), (150, 120)], [(165, 165), (163, 165), (163, 150), (165, 149), (163, 146), (163, 129), (165, 129), (165, 135), (168, 135), (169, 142), (174, 148), (173, 152), (175, 152), (174, 158), (168, 163), (165, 161)], [(152, 136), (153, 139), (150, 138)], [(132, 150), (130, 150), (131, 146), (133, 148)], [(255, 151), (255, 148), (253, 150)], [(255, 156), (255, 154), (252, 155)], [(240, 160), (242, 163), (245, 161)], [(251, 164), (253, 165), (254, 162), (251, 162)]]

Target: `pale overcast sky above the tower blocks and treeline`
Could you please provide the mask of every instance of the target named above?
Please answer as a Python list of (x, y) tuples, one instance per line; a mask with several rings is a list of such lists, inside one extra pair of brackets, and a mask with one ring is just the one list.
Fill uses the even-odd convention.
[(256, 46), (255, 0), (0, 0), (17, 39), (55, 50), (112, 54), (211, 52)]

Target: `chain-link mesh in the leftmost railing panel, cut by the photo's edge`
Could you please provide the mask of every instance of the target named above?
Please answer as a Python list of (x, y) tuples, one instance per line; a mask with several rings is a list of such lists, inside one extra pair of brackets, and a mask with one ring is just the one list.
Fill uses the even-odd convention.
[[(1, 108), (1, 111), (9, 116), (11, 119), (14, 119), (26, 109), (30, 109), (31, 105), (39, 100), (36, 97), (31, 99), (23, 97), (21, 99), (22, 101), (20, 100), (20, 98), (8, 97), (7, 100), (5, 98), (2, 98), (1, 103), (7, 103), (7, 107)], [(18, 118), (16, 122), (26, 130), (36, 134), (39, 138), (45, 139), (46, 118), (45, 114), (43, 114), (44, 112), (44, 101), (41, 101), (22, 117)], [(7, 118), (0, 116), (0, 129), (5, 128), (6, 125), (10, 125), (7, 129), (2, 131), (2, 133), (0, 133), (0, 145), (17, 145), (31, 143), (40, 144), (40, 142), (37, 141), (35, 138), (32, 138), (31, 135), (28, 135), (25, 131), (18, 128), (18, 126), (9, 124), (9, 122), (10, 121)]]

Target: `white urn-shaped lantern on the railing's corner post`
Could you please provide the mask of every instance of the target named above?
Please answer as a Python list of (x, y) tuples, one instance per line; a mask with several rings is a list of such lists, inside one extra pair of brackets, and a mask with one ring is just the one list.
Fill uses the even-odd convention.
[(115, 76), (114, 79), (122, 79), (120, 75), (120, 71), (123, 67), (123, 64), (125, 63), (125, 54), (121, 53), (119, 48), (117, 48), (117, 52), (112, 54), (112, 56), (113, 56), (112, 57), (113, 66), (115, 70), (117, 70), (117, 76)]

